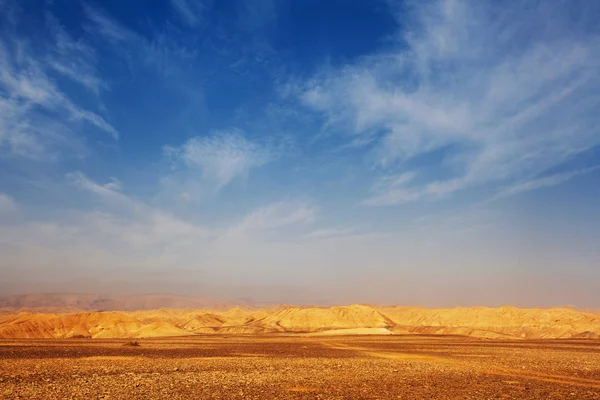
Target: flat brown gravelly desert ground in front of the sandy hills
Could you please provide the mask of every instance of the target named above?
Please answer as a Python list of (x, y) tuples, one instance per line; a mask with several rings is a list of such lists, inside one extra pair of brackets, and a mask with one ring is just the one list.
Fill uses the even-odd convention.
[(600, 399), (600, 341), (193, 336), (0, 341), (6, 399)]

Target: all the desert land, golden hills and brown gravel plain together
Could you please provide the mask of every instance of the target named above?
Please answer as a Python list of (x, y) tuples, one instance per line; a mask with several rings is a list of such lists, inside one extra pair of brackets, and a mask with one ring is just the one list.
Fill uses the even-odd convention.
[(6, 399), (600, 399), (569, 308), (274, 307), (0, 315)]

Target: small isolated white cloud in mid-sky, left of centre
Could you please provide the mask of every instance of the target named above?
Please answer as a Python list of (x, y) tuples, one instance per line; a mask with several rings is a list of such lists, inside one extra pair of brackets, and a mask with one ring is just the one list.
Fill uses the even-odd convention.
[(217, 189), (277, 156), (271, 147), (251, 142), (235, 130), (194, 137), (181, 147), (165, 147), (165, 153), (175, 162), (200, 169)]

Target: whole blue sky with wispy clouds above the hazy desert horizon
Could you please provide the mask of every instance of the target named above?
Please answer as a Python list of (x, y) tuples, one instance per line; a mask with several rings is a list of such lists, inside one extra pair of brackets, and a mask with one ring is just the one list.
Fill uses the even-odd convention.
[(598, 15), (0, 0), (0, 294), (600, 307)]

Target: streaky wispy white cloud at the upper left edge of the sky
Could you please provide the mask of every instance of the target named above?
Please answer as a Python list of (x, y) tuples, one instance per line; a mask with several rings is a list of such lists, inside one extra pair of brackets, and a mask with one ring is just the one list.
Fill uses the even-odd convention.
[(0, 148), (11, 155), (54, 159), (62, 152), (82, 154), (82, 124), (118, 138), (117, 130), (97, 112), (71, 99), (55, 74), (96, 94), (103, 86), (95, 73), (90, 48), (75, 42), (47, 16), (52, 42), (35, 44), (16, 30), (0, 38)]

